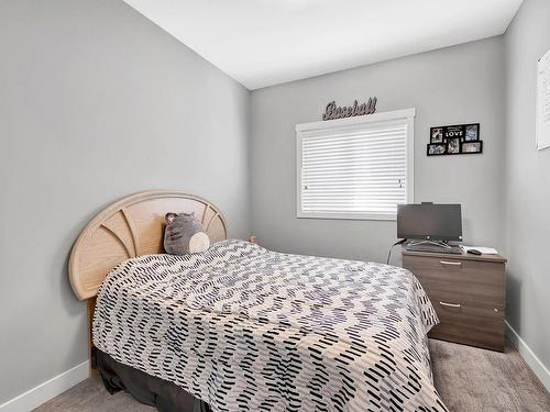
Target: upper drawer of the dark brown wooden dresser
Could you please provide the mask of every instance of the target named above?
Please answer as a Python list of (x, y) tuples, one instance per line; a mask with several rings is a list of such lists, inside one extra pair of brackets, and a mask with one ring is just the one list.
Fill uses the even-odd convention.
[(502, 263), (449, 257), (403, 256), (403, 266), (418, 278), (430, 299), (504, 311)]

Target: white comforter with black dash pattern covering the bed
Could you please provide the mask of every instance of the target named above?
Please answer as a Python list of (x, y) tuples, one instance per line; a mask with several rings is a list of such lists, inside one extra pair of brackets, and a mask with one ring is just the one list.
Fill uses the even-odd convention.
[(125, 260), (107, 277), (96, 346), (217, 411), (447, 411), (418, 280), (373, 263), (242, 241)]

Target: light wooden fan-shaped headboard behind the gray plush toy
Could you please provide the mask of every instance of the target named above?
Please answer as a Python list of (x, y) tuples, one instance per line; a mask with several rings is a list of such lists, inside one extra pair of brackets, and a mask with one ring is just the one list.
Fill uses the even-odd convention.
[(94, 298), (107, 274), (121, 261), (164, 253), (164, 216), (168, 212), (195, 212), (211, 243), (228, 238), (221, 211), (197, 196), (145, 191), (121, 199), (94, 218), (73, 247), (69, 278), (77, 298)]

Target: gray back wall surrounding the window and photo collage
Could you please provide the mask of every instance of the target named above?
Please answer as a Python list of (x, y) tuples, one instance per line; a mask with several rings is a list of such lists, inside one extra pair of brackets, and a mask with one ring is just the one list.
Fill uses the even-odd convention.
[[(443, 48), (252, 92), (252, 229), (270, 248), (385, 261), (395, 222), (296, 218), (297, 123), (378, 97), (378, 111), (416, 108), (415, 200), (459, 202), (464, 240), (502, 246), (503, 38)], [(484, 154), (427, 157), (430, 126), (480, 122)], [(394, 260), (395, 261), (395, 260)]]

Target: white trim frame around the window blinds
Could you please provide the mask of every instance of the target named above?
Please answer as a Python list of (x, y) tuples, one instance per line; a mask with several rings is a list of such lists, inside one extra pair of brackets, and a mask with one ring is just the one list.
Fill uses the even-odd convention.
[(371, 126), (376, 123), (398, 122), (407, 125), (405, 142), (405, 202), (414, 202), (415, 197), (415, 115), (416, 109), (394, 110), (391, 112), (374, 113), (364, 116), (301, 123), (296, 125), (296, 218), (298, 219), (343, 219), (367, 221), (396, 221), (396, 213), (346, 213), (346, 212), (305, 212), (301, 210), (301, 166), (302, 166), (302, 138), (310, 132), (344, 132), (350, 126)]

